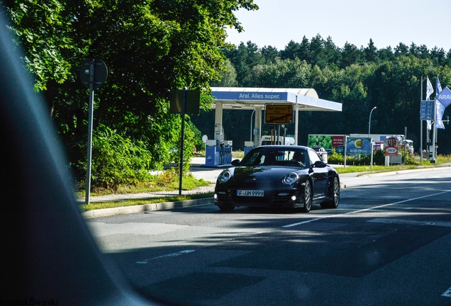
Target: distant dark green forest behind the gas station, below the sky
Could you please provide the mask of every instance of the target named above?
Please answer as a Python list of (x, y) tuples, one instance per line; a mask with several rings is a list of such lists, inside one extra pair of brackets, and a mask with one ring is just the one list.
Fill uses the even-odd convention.
[[(421, 88), (423, 85), (424, 99), (426, 76), (434, 88), (437, 75), (442, 88), (451, 84), (451, 50), (445, 52), (437, 47), (428, 50), (425, 45), (414, 43), (410, 47), (399, 43), (394, 49), (377, 49), (369, 40), (367, 47), (346, 43), (340, 48), (331, 38), (324, 40), (316, 35), (311, 40), (304, 37), (300, 43), (291, 40), (284, 50), (242, 42), (223, 52), (233, 66), (233, 73), (224, 84), (216, 81), (216, 86), (313, 88), (320, 98), (343, 103), (340, 113), (301, 111), (298, 139), (301, 145), (307, 145), (309, 134), (367, 133), (369, 112), (377, 106), (372, 113), (371, 132), (404, 134), (407, 127), (408, 139), (413, 140), (418, 151)], [(235, 82), (230, 79), (233, 74)], [(234, 149), (243, 149), (244, 142), (250, 140), (251, 113), (224, 111), (225, 135), (227, 140), (233, 140)], [(445, 110), (447, 114), (449, 111)], [(201, 112), (192, 120), (203, 134), (213, 137), (213, 113)], [(294, 134), (294, 125), (287, 127), (287, 134)], [(269, 129), (264, 124), (263, 135), (269, 135)], [(424, 125), (423, 144), (425, 134)], [(451, 142), (445, 141), (449, 137), (450, 128), (445, 124), (445, 130), (438, 132), (440, 154), (451, 152)]]

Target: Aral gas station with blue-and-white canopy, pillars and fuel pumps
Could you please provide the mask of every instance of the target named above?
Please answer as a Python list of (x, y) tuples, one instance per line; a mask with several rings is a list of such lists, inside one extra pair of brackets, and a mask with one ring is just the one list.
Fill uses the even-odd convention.
[[(206, 140), (205, 164), (201, 165), (207, 167), (230, 166), (232, 161), (233, 141), (224, 139), (223, 109), (254, 111), (251, 140), (245, 142), (245, 153), (262, 142), (262, 113), (265, 113), (265, 123), (277, 125), (277, 131), (281, 124), (294, 123), (294, 145), (297, 145), (299, 111), (342, 111), (341, 103), (319, 98), (315, 89), (211, 87), (211, 91), (215, 100), (214, 139)], [(273, 137), (271, 140), (276, 144), (279, 132)]]

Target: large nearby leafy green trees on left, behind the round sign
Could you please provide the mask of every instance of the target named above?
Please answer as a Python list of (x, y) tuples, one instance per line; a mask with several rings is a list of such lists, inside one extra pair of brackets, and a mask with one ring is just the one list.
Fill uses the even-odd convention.
[[(118, 172), (140, 148), (144, 164), (161, 169), (174, 161), (181, 143), (181, 116), (169, 113), (171, 89), (201, 89), (201, 106), (211, 104), (209, 84), (224, 70), (225, 27), (242, 30), (234, 15), (257, 6), (252, 0), (11, 0), (6, 6), (14, 39), (25, 50), (24, 64), (43, 91), (78, 179), (87, 159), (88, 90), (79, 70), (97, 57), (108, 67), (95, 91), (94, 129), (100, 150), (93, 163)], [(186, 116), (186, 119), (189, 119)], [(108, 136), (101, 136), (108, 127)], [(194, 128), (187, 125), (186, 158), (194, 152)], [(116, 146), (116, 144), (118, 146)], [(107, 147), (108, 145), (108, 147)], [(111, 152), (114, 150), (114, 152)], [(146, 153), (145, 153), (146, 152)], [(106, 154), (108, 153), (108, 154)], [(108, 159), (108, 160), (104, 160)], [(108, 166), (104, 166), (108, 168)], [(128, 171), (128, 169), (123, 169)], [(104, 176), (102, 178), (102, 176)], [(110, 171), (96, 172), (94, 184), (111, 184)], [(121, 178), (118, 179), (121, 181)], [(117, 182), (116, 182), (117, 183)]]

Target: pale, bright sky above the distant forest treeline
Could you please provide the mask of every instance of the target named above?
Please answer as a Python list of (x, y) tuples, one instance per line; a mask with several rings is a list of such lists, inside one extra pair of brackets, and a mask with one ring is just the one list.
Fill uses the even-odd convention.
[(260, 9), (235, 12), (245, 32), (227, 30), (227, 42), (252, 41), (258, 47), (278, 50), (294, 40), (311, 41), (316, 35), (367, 47), (371, 38), (377, 49), (400, 42), (451, 49), (451, 0), (254, 0)]

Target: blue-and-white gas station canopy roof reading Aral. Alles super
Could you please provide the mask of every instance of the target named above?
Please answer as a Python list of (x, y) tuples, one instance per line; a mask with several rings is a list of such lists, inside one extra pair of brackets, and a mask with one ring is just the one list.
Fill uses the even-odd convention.
[(299, 111), (342, 111), (341, 103), (319, 98), (315, 89), (211, 87), (211, 91), (223, 109), (255, 110), (268, 103), (294, 103)]

